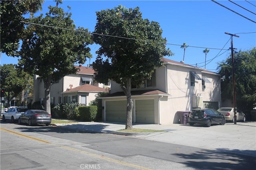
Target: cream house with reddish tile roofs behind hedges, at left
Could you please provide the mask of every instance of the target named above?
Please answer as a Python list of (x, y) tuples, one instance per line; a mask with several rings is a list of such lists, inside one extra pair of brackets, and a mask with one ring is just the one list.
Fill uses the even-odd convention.
[[(51, 104), (78, 102), (88, 106), (94, 100), (98, 92), (109, 90), (109, 84), (94, 83), (94, 70), (86, 66), (75, 66), (78, 68), (76, 74), (70, 74), (61, 78), (57, 83), (52, 84), (50, 90)], [(44, 82), (34, 76), (33, 102), (44, 100)], [(31, 100), (30, 100), (31, 102)]]

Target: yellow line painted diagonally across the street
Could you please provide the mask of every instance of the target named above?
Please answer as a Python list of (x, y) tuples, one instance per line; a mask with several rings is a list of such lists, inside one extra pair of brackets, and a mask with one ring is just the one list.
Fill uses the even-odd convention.
[[(58, 146), (58, 145), (55, 145), (55, 144), (52, 144), (48, 141), (44, 141), (42, 139), (38, 139), (36, 137), (31, 137), (31, 136), (28, 136), (28, 135), (24, 135), (22, 133), (18, 133), (18, 132), (14, 132), (14, 131), (10, 131), (8, 129), (4, 129), (2, 127), (0, 127), (0, 130), (1, 131), (6, 131), (6, 132), (9, 132), (9, 133), (14, 133), (15, 135), (20, 135), (22, 137), (26, 137), (28, 139), (34, 139), (36, 141), (40, 141), (40, 142), (43, 142), (43, 143), (49, 143), (51, 145), (54, 145), (54, 146)], [(121, 165), (125, 165), (125, 166), (130, 166), (132, 168), (138, 168), (138, 169), (143, 169), (143, 170), (151, 170), (150, 168), (146, 168), (144, 166), (140, 166), (140, 165), (136, 165), (136, 164), (130, 164), (130, 163), (127, 163), (127, 162), (124, 162), (124, 161), (121, 161), (121, 160), (116, 160), (116, 159), (113, 159), (113, 158), (108, 158), (104, 155), (98, 155), (98, 154), (94, 154), (94, 153), (90, 153), (90, 152), (86, 152), (86, 151), (83, 151), (83, 150), (79, 150), (79, 149), (74, 149), (74, 148), (71, 148), (71, 147), (67, 147), (67, 146), (58, 146), (58, 147), (62, 147), (64, 149), (68, 149), (68, 150), (72, 150), (72, 151), (75, 151), (75, 152), (80, 152), (80, 153), (84, 153), (84, 154), (87, 154), (89, 156), (93, 156), (95, 158), (100, 158), (100, 159), (103, 159), (103, 160), (107, 160), (109, 162), (114, 162), (114, 163), (117, 163), (117, 164), (121, 164)]]

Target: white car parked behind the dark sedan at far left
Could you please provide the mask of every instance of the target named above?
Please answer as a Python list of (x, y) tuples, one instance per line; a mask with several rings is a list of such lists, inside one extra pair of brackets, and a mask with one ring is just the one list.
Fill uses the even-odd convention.
[(24, 113), (26, 108), (10, 107), (8, 111), (4, 112), (2, 121), (10, 120), (12, 123), (18, 121), (21, 113)]

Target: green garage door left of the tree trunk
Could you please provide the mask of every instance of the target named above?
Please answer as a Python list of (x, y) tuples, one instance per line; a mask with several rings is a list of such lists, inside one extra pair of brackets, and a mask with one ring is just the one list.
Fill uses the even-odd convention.
[(106, 101), (106, 121), (126, 122), (126, 100)]

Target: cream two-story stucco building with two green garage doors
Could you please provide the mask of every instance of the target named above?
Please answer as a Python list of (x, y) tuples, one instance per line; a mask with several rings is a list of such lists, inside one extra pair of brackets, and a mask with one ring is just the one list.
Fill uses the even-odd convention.
[[(162, 59), (152, 78), (132, 87), (132, 122), (172, 124), (177, 111), (221, 105), (220, 75), (188, 64)], [(127, 100), (119, 84), (102, 97), (103, 121), (126, 121)]]

